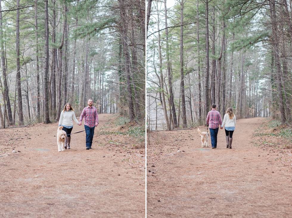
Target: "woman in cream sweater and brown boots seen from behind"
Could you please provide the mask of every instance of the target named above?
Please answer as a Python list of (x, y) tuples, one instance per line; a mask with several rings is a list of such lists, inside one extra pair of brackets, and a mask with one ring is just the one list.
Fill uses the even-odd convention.
[(229, 147), (231, 149), (232, 134), (235, 130), (235, 124), (236, 124), (236, 117), (233, 113), (232, 108), (227, 109), (226, 114), (224, 115), (224, 118), (223, 118), (221, 129), (223, 129), (224, 124), (225, 124), (227, 148)]

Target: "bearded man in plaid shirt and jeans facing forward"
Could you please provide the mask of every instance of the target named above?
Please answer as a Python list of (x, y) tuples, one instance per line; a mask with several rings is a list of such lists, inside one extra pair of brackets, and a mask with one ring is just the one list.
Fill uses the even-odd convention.
[(96, 108), (92, 106), (93, 100), (88, 99), (87, 104), (88, 106), (86, 108), (83, 108), (78, 123), (78, 125), (81, 126), (82, 119), (84, 117), (84, 128), (86, 132), (86, 150), (91, 149), (94, 128), (98, 125), (98, 114)]

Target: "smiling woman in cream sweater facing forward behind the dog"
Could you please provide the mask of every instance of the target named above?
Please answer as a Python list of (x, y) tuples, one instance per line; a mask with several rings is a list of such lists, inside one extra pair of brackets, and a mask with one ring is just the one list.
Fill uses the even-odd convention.
[(78, 124), (78, 120), (76, 119), (74, 110), (72, 106), (67, 103), (60, 114), (59, 126), (63, 126), (63, 130), (67, 133), (67, 137), (65, 140), (65, 149), (70, 149), (70, 141), (71, 141), (71, 132), (73, 129), (73, 122)]

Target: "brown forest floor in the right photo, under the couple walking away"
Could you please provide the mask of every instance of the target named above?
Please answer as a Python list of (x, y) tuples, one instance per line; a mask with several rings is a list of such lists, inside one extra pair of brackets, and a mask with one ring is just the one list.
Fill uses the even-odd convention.
[(217, 149), (210, 138), (202, 148), (196, 128), (150, 132), (147, 217), (291, 217), (292, 146), (284, 137), (292, 131), (281, 128), (265, 118), (238, 120), (232, 149), (224, 129)]

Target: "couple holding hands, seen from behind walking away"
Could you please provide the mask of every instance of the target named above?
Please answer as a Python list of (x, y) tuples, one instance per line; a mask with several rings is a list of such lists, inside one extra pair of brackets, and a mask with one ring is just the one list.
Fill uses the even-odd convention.
[(208, 112), (206, 119), (206, 125), (209, 126), (210, 130), (212, 149), (217, 148), (217, 135), (219, 130), (219, 124), (221, 130), (223, 129), (223, 126), (225, 124), (227, 148), (231, 149), (232, 135), (235, 130), (236, 117), (233, 113), (232, 108), (228, 108), (226, 114), (224, 115), (222, 123), (220, 113), (216, 110), (216, 105), (212, 104), (212, 110)]

